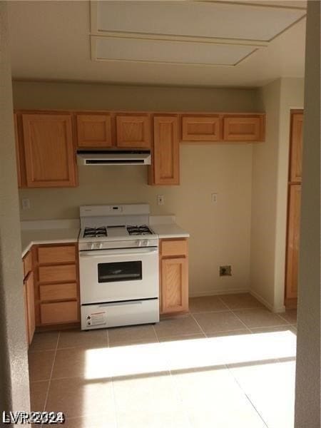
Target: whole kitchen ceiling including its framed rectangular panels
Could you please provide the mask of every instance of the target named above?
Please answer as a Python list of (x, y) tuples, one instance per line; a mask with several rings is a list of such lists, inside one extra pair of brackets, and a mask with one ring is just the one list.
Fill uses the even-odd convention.
[(9, 1), (14, 79), (254, 87), (303, 77), (306, 1)]

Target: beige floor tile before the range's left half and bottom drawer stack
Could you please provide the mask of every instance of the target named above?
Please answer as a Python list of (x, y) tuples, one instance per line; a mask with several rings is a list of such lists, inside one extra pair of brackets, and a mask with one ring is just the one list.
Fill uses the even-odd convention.
[(58, 349), (68, 347), (97, 348), (108, 346), (107, 330), (66, 330), (60, 333)]

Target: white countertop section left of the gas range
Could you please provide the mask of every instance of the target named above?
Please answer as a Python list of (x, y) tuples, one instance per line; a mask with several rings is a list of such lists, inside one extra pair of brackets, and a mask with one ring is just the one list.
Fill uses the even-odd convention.
[(22, 257), (36, 244), (76, 243), (79, 229), (36, 229), (21, 231)]

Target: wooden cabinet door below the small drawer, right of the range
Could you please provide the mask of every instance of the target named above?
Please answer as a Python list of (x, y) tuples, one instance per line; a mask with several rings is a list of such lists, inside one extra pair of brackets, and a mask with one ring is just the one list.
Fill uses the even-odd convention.
[(161, 312), (188, 310), (188, 261), (186, 258), (161, 260)]

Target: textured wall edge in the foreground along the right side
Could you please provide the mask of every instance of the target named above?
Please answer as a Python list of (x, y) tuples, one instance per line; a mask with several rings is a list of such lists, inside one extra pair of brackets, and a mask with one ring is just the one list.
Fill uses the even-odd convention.
[(306, 35), (295, 428), (320, 428), (320, 1)]

